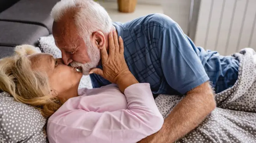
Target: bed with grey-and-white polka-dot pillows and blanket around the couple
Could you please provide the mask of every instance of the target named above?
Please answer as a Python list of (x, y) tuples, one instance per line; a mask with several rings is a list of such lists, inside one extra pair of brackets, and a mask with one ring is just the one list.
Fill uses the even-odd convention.
[[(50, 53), (55, 58), (61, 57), (52, 35), (41, 37), (38, 43), (42, 52)], [(240, 60), (239, 79), (233, 87), (216, 94), (217, 108), (177, 143), (256, 143), (255, 55), (252, 49), (244, 49), (233, 55)], [(92, 88), (90, 76), (82, 77), (79, 89), (83, 87)], [(159, 95), (155, 101), (166, 118), (182, 98)], [(8, 93), (0, 93), (0, 143), (47, 143), (43, 133), (45, 123), (35, 109), (17, 103)]]

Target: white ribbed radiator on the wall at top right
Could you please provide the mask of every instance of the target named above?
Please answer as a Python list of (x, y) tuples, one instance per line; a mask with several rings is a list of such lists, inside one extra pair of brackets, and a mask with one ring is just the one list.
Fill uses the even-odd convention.
[(222, 55), (256, 50), (256, 0), (201, 0), (194, 42)]

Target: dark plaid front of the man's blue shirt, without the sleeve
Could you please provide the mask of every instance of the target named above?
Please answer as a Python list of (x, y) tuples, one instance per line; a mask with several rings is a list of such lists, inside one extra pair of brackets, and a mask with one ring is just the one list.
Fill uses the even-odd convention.
[[(118, 29), (119, 24), (114, 24)], [(143, 28), (141, 28), (143, 27)], [(150, 83), (153, 93), (163, 94), (167, 93), (166, 88), (171, 88), (165, 83), (164, 87), (160, 87), (161, 80), (163, 80), (163, 72), (161, 69), (160, 52), (157, 49), (159, 38), (152, 36), (152, 29), (161, 31), (163, 27), (154, 22), (150, 22), (148, 26), (142, 25), (133, 29), (118, 30), (118, 35), (121, 35), (125, 47), (125, 61), (131, 73), (135, 78), (143, 83)], [(98, 66), (102, 69), (102, 65)], [(111, 82), (102, 78), (99, 75), (91, 74), (93, 87), (101, 87)], [(166, 81), (162, 81), (166, 82)]]

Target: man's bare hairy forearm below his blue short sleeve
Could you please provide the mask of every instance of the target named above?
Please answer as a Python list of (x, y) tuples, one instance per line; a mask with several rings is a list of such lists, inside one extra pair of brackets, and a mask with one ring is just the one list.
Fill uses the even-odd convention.
[(178, 103), (157, 133), (138, 143), (172, 143), (196, 128), (216, 107), (209, 82), (195, 87)]

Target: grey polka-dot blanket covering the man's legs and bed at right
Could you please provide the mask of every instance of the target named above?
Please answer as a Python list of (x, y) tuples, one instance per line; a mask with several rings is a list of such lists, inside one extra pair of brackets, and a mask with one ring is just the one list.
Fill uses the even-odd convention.
[[(256, 52), (242, 49), (235, 85), (216, 94), (217, 108), (177, 143), (256, 143)], [(156, 104), (166, 118), (182, 98), (159, 95)]]

